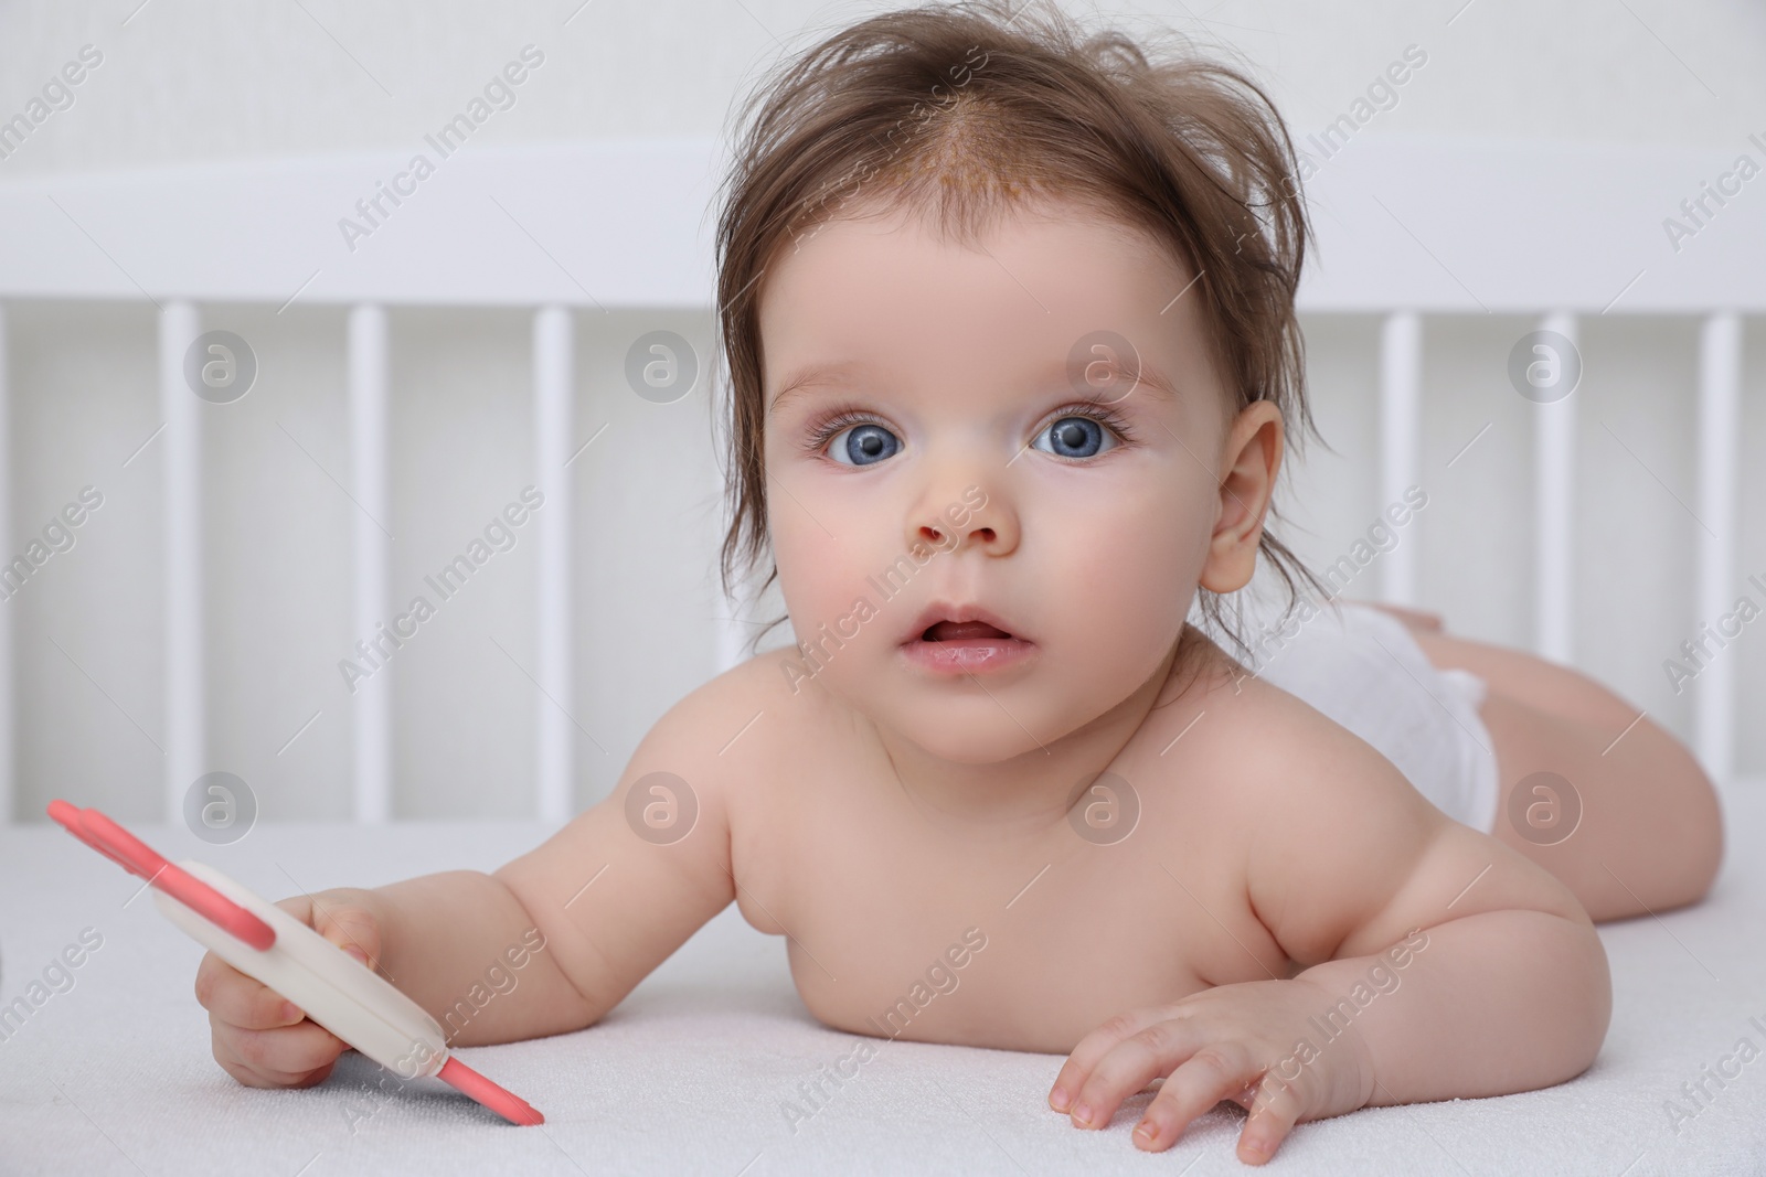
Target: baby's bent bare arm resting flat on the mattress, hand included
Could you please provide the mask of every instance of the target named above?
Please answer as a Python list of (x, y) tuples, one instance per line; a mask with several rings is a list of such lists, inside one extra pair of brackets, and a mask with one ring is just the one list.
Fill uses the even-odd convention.
[[(1291, 979), (1125, 1013), (1074, 1050), (1051, 1103), (1109, 1122), (1167, 1076), (1134, 1140), (1166, 1149), (1219, 1099), (1250, 1110), (1243, 1161), (1296, 1121), (1565, 1082), (1600, 1050), (1605, 951), (1575, 896), (1453, 822), (1370, 745), (1280, 695), (1240, 738), (1247, 898)], [(1284, 739), (1270, 739), (1279, 731)]]

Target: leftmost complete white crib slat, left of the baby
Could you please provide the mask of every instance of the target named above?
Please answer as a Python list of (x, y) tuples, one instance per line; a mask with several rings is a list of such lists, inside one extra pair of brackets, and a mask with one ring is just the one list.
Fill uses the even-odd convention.
[(184, 821), (184, 794), (203, 773), (203, 418), (184, 379), (184, 353), (201, 334), (189, 302), (159, 312), (159, 413), (166, 422), (166, 821)]

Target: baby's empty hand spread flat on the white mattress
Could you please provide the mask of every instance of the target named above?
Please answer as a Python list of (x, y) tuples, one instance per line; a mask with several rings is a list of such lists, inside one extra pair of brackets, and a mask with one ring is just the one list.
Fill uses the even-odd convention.
[[(1263, 1165), (1300, 1121), (1342, 1115), (1374, 1094), (1374, 1068), (1355, 1025), (1319, 1041), (1310, 1018), (1335, 997), (1312, 981), (1220, 985), (1169, 1006), (1118, 1015), (1086, 1034), (1049, 1092), (1079, 1128), (1104, 1128), (1128, 1096), (1166, 1076), (1134, 1129), (1162, 1152), (1220, 1099), (1250, 1110), (1238, 1159)], [(1296, 1053), (1298, 1043), (1310, 1048)]]

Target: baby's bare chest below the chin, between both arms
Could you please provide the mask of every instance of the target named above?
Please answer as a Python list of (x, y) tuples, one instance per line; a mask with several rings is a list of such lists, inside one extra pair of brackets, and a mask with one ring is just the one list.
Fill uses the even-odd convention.
[(1286, 976), (1231, 838), (1187, 826), (1169, 794), (1137, 796), (1132, 828), (1079, 813), (1005, 831), (844, 764), (775, 780), (731, 822), (738, 903), (788, 939), (828, 1025), (1067, 1052), (1116, 1013)]

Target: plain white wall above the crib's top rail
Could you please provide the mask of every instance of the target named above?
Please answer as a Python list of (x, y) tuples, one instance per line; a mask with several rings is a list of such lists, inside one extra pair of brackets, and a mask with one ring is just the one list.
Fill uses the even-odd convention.
[[(781, 46), (894, 7), (150, 0), (136, 11), (140, 4), (0, 5), (7, 115), (81, 44), (104, 53), (76, 104), (0, 175), (404, 146), (528, 42), (547, 62), (516, 108), (487, 125), (487, 143), (715, 134), (731, 95)], [(1754, 0), (1171, 0), (1097, 11), (1132, 30), (1173, 26), (1243, 53), (1298, 132), (1335, 118), (1411, 42), (1430, 65), (1369, 134), (1731, 146), (1766, 116), (1766, 9)]]

